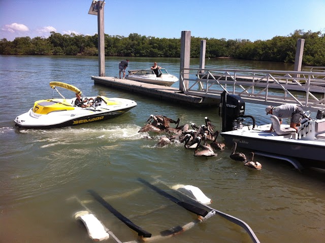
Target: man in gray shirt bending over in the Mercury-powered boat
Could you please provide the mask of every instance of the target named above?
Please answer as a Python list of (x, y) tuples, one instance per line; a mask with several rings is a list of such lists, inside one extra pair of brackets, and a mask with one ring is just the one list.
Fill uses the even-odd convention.
[[(302, 120), (304, 116), (304, 110), (297, 106), (296, 104), (283, 104), (280, 106), (267, 106), (266, 107), (266, 114), (275, 115), (279, 118), (280, 124), (282, 123), (282, 118), (289, 118), (290, 120), (290, 128), (296, 129), (296, 132), (298, 132), (297, 125), (300, 126), (300, 121)], [(271, 124), (271, 128), (269, 131), (266, 132), (272, 132), (273, 130), (273, 124)]]

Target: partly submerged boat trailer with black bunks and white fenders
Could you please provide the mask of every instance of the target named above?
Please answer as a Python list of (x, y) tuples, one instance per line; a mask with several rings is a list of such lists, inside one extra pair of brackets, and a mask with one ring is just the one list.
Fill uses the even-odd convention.
[[(106, 209), (108, 209), (115, 217), (117, 217), (121, 222), (123, 222), (125, 225), (127, 225), (132, 230), (136, 231), (138, 233), (138, 239), (127, 241), (127, 243), (136, 243), (139, 241), (156, 241), (161, 239), (167, 239), (169, 237), (172, 237), (176, 234), (179, 234), (181, 232), (184, 232), (195, 225), (204, 222), (208, 220), (209, 218), (219, 215), (226, 220), (231, 221), (232, 223), (235, 223), (242, 227), (250, 236), (252, 242), (259, 243), (258, 238), (256, 237), (253, 230), (242, 220), (235, 218), (231, 215), (225, 214), (224, 212), (221, 212), (219, 210), (216, 210), (212, 207), (210, 207), (208, 204), (211, 203), (211, 199), (209, 199), (204, 193), (197, 187), (191, 186), (191, 185), (175, 185), (172, 187), (169, 187), (169, 189), (172, 189), (175, 192), (175, 195), (173, 196), (170, 193), (160, 189), (159, 187), (153, 185), (156, 183), (161, 183), (167, 186), (163, 181), (156, 179), (155, 183), (149, 183), (149, 181), (138, 178), (138, 181), (145, 185), (145, 188), (150, 188), (151, 190), (155, 191), (161, 196), (164, 196), (165, 198), (171, 200), (172, 202), (176, 203), (177, 205), (183, 207), (184, 209), (192, 212), (193, 214), (196, 214), (198, 216), (197, 219), (192, 220), (182, 226), (176, 225), (174, 227), (171, 227), (169, 229), (163, 230), (159, 232), (157, 235), (152, 235), (150, 232), (146, 231), (142, 227), (136, 225), (131, 220), (126, 218), (124, 215), (122, 215), (117, 209), (115, 209), (104, 197), (99, 195), (94, 190), (88, 190), (88, 193), (95, 199), (95, 201), (99, 202), (102, 206), (104, 206)], [(139, 192), (139, 190), (135, 190), (134, 192)], [(127, 195), (130, 195), (129, 192), (126, 193)], [(174, 193), (173, 193), (174, 194)], [(116, 196), (112, 196), (113, 198), (116, 198)], [(78, 211), (74, 215), (74, 219), (77, 221), (81, 221), (89, 234), (89, 237), (92, 238), (95, 241), (100, 241), (109, 238), (110, 236), (114, 238), (114, 240), (118, 243), (122, 243), (121, 240), (119, 240), (116, 235), (108, 228), (106, 228), (96, 217), (93, 212), (85, 204), (80, 201), (79, 198), (75, 198), (86, 210)], [(71, 199), (73, 199), (71, 198)], [(161, 209), (161, 207), (159, 207)], [(149, 213), (151, 213), (150, 211)], [(149, 214), (148, 213), (148, 214)], [(143, 215), (143, 214), (142, 214)], [(147, 215), (147, 214), (146, 214)]]

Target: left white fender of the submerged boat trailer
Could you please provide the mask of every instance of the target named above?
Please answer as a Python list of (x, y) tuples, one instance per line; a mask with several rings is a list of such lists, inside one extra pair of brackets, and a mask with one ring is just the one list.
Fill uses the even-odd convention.
[(88, 235), (94, 241), (108, 239), (110, 235), (106, 232), (104, 225), (88, 211), (79, 211), (74, 215), (75, 220), (80, 220), (84, 223)]

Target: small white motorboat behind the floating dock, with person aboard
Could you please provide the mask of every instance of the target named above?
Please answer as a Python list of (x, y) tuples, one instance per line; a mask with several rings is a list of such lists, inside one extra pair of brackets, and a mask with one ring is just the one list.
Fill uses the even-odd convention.
[(169, 74), (166, 69), (158, 69), (158, 76), (150, 69), (130, 70), (125, 77), (129, 80), (139, 81), (143, 83), (152, 83), (163, 86), (172, 86), (178, 81), (178, 78)]

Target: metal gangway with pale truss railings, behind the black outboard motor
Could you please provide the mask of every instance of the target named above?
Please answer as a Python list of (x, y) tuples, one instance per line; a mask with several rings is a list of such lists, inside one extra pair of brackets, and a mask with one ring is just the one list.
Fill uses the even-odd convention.
[(220, 99), (225, 91), (248, 103), (273, 106), (291, 103), (313, 112), (325, 109), (325, 72), (318, 70), (184, 68), (180, 82), (187, 95)]

